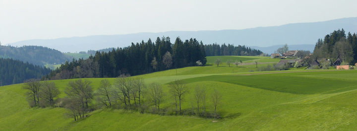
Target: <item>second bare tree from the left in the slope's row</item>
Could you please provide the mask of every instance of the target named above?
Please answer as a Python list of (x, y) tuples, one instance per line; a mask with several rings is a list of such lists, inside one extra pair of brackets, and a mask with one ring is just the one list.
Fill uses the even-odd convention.
[(60, 94), (60, 90), (56, 87), (54, 82), (43, 82), (40, 90), (40, 98), (46, 100), (46, 102), (53, 106), (55, 104), (55, 98)]

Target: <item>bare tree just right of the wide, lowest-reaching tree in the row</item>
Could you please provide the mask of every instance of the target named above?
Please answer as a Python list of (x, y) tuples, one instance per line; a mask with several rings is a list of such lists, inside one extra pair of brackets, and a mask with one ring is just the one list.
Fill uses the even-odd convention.
[(100, 82), (100, 87), (96, 92), (96, 94), (99, 97), (99, 100), (107, 107), (112, 106), (111, 93), (110, 93), (112, 90), (111, 88), (112, 88), (112, 84), (107, 79), (104, 79)]

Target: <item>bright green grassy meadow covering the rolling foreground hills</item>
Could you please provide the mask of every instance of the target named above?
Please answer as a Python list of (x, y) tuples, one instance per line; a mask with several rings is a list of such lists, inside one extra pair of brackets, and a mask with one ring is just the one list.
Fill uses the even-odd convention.
[[(220, 56), (221, 57), (221, 56)], [(233, 56), (238, 57), (238, 56)], [(208, 57), (210, 58), (210, 57)], [(231, 56), (230, 56), (231, 58)], [(227, 59), (230, 59), (227, 58)], [(264, 66), (277, 62), (266, 57), (247, 58)], [(288, 70), (251, 72), (255, 65), (186, 67), (141, 76), (145, 83), (164, 87), (163, 108), (173, 108), (168, 84), (182, 81), (190, 89), (182, 103), (191, 109), (194, 87), (207, 89), (212, 110), (214, 89), (223, 95), (223, 119), (161, 116), (103, 108), (74, 122), (63, 108), (30, 108), (22, 84), (0, 87), (1, 131), (354, 131), (357, 128), (357, 71)], [(104, 78), (87, 79), (97, 88)], [(115, 78), (109, 78), (114, 82)], [(68, 81), (57, 80), (63, 92)], [(65, 94), (61, 93), (60, 97)]]

